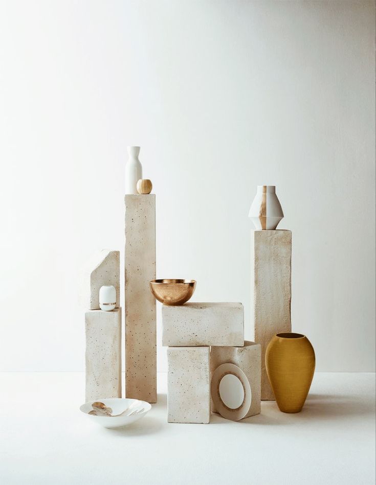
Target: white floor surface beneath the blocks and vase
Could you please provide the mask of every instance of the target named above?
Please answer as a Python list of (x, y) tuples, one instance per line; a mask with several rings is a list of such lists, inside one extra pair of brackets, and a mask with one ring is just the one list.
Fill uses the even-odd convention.
[(169, 424), (158, 403), (131, 427), (79, 411), (83, 373), (0, 373), (2, 485), (269, 485), (375, 482), (375, 375), (318, 373), (302, 412), (263, 402), (240, 422)]

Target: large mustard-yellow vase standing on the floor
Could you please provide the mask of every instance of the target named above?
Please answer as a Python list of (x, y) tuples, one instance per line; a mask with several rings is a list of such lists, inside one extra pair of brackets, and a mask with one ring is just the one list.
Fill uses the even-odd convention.
[(269, 342), (265, 364), (278, 407), (299, 412), (315, 372), (315, 351), (300, 333), (278, 333)]

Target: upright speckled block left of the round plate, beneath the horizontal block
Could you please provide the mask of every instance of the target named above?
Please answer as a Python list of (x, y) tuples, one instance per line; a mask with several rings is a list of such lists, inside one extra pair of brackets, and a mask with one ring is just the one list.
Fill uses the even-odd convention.
[(210, 348), (169, 347), (169, 423), (210, 422)]

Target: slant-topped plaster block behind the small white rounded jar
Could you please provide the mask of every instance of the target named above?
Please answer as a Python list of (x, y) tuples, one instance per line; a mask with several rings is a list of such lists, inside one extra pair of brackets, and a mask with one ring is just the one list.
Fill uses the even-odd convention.
[(116, 308), (120, 307), (120, 251), (102, 249), (93, 255), (81, 271), (79, 303), (89, 310), (99, 310), (99, 290), (103, 285), (116, 289)]

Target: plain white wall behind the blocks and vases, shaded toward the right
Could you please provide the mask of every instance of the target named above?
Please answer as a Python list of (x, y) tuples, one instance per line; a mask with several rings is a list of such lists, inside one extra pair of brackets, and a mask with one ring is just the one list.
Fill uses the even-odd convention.
[(158, 277), (243, 302), (252, 338), (247, 216), (275, 184), (293, 329), (317, 370), (373, 371), (374, 67), (374, 2), (2, 1), (0, 369), (83, 370), (78, 268), (123, 250), (141, 145)]

